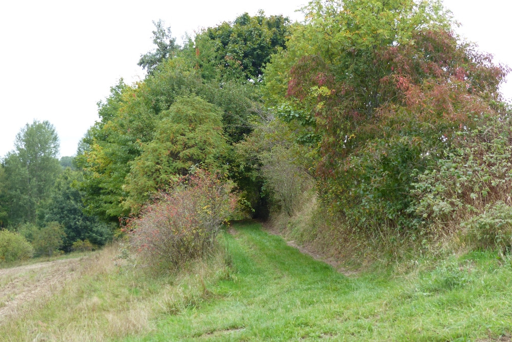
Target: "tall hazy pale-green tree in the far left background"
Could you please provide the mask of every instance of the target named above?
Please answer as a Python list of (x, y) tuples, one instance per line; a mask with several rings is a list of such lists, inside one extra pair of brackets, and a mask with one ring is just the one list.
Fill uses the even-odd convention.
[(27, 124), (16, 135), (14, 147), (3, 161), (9, 220), (34, 223), (61, 171), (55, 127), (48, 121)]

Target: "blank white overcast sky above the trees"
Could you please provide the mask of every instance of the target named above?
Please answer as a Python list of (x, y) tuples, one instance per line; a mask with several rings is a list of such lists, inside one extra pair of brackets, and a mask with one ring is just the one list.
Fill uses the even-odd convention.
[[(8, 1), (0, 3), (0, 157), (13, 149), (20, 128), (34, 119), (57, 129), (61, 155), (98, 119), (96, 103), (120, 77), (143, 78), (140, 55), (153, 49), (152, 20), (162, 19), (178, 40), (188, 32), (263, 9), (294, 12), (307, 0), (259, 1)], [(459, 32), (512, 66), (508, 0), (445, 0), (463, 25)], [(503, 87), (512, 98), (512, 81)]]

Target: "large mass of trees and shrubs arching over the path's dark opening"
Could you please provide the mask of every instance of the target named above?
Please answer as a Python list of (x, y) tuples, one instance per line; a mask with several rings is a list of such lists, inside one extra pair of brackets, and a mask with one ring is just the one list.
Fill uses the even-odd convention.
[(334, 249), (508, 248), (509, 69), (458, 37), (440, 1), (303, 11), (246, 13), (183, 46), (156, 23), (147, 76), (112, 87), (78, 148), (84, 212), (134, 231), (201, 169), (252, 216)]

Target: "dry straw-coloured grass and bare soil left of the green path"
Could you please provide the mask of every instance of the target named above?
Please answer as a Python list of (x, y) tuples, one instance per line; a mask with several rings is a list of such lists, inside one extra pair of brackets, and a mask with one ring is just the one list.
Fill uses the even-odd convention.
[(147, 333), (155, 329), (159, 314), (179, 313), (207, 300), (209, 284), (229, 276), (222, 251), (165, 276), (127, 263), (120, 266), (118, 253), (118, 246), (110, 246), (86, 258), (2, 270), (3, 290), (16, 279), (17, 293), (37, 290), (10, 307), (8, 319), (0, 321), (0, 336), (7, 341), (82, 342)]

